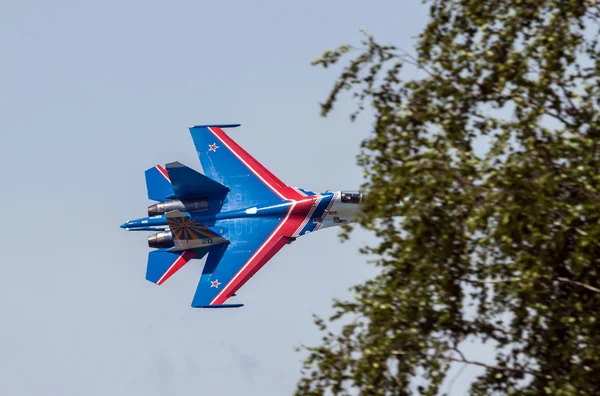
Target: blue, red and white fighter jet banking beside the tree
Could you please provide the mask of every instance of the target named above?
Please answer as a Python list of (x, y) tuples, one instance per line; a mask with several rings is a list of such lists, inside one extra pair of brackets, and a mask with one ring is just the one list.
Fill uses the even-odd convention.
[(238, 145), (224, 129), (189, 128), (203, 173), (180, 162), (146, 170), (148, 216), (121, 224), (148, 237), (146, 279), (162, 285), (192, 259), (206, 262), (194, 308), (235, 308), (230, 297), (286, 244), (356, 219), (360, 191), (315, 193), (290, 187)]

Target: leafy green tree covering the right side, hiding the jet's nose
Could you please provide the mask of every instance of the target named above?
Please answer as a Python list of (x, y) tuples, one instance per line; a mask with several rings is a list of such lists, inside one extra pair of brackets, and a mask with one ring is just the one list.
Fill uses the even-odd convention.
[(381, 272), (316, 318), (297, 394), (440, 394), (456, 362), (484, 368), (472, 394), (600, 394), (600, 6), (428, 2), (414, 56), (366, 36), (315, 61), (353, 56), (324, 116), (346, 91), (375, 114), (357, 224)]

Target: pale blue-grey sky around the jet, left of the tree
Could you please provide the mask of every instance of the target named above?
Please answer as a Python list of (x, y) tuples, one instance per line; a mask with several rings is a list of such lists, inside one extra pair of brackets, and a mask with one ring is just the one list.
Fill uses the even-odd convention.
[(197, 310), (202, 262), (156, 286), (148, 234), (119, 224), (152, 203), (144, 170), (200, 168), (193, 124), (241, 123), (230, 136), (290, 185), (359, 187), (371, 119), (351, 123), (349, 99), (320, 117), (340, 69), (310, 62), (361, 27), (410, 49), (426, 20), (420, 1), (367, 4), (2, 0), (0, 393), (293, 392), (312, 314), (374, 274), (369, 235), (305, 236), (240, 290), (244, 308)]

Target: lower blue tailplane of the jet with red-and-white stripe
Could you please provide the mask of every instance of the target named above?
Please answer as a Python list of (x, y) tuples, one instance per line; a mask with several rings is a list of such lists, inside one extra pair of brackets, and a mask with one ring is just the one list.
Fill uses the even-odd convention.
[(157, 285), (162, 285), (175, 272), (179, 271), (188, 261), (193, 258), (201, 259), (208, 253), (209, 248), (198, 250), (186, 250), (184, 252), (168, 252), (166, 250), (155, 250), (148, 254), (148, 266), (146, 267), (146, 280)]

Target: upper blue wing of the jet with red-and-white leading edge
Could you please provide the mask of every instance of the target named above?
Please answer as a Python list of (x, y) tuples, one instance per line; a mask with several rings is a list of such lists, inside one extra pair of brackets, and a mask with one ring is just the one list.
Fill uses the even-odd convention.
[(229, 209), (306, 197), (304, 192), (282, 182), (223, 131), (237, 126), (190, 127), (204, 174), (230, 189), (233, 199), (230, 198)]

